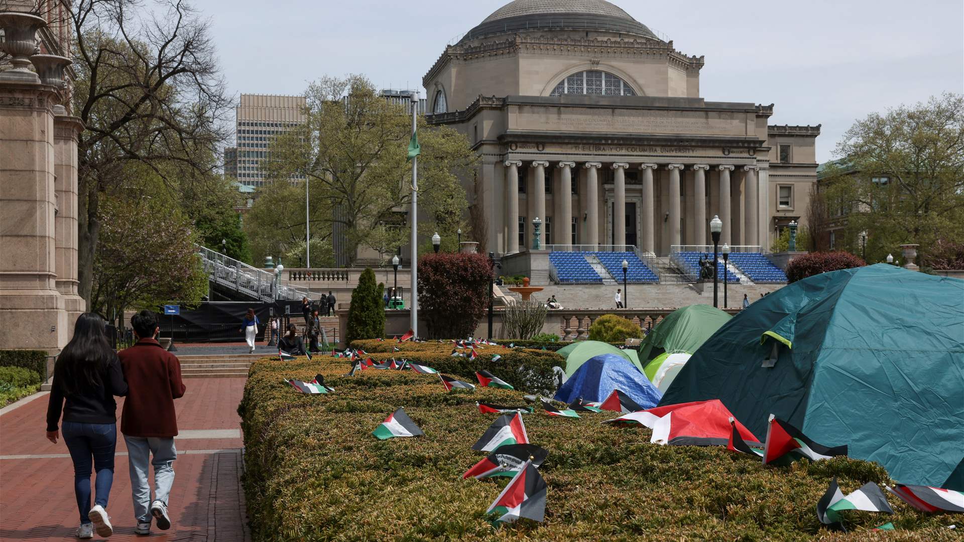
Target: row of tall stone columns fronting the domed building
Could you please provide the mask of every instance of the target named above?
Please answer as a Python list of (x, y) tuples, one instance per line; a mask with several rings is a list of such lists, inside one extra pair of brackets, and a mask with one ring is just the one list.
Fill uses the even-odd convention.
[[(520, 175), (524, 175), (522, 172), (523, 161), (518, 159), (509, 159), (504, 161), (504, 166), (506, 168), (505, 172), (505, 189), (506, 189), (506, 213), (505, 213), (505, 227), (506, 227), (506, 253), (516, 253), (520, 250), (520, 239), (519, 239), (519, 221), (522, 216), (520, 214)], [(534, 217), (527, 217), (528, 221), (531, 221), (535, 217), (539, 217), (541, 220), (546, 221), (546, 188), (547, 188), (547, 172), (551, 172), (550, 162), (547, 160), (533, 160), (528, 161), (529, 173), (531, 174), (529, 178), (532, 182), (526, 184), (526, 200), (529, 204), (528, 210), (535, 213)], [(760, 232), (762, 230), (759, 224), (760, 220), (765, 220), (765, 216), (760, 216), (763, 209), (765, 209), (765, 198), (766, 189), (765, 187), (759, 186), (758, 172), (760, 167), (756, 164), (710, 164), (710, 163), (693, 163), (693, 164), (683, 164), (680, 162), (672, 163), (651, 163), (644, 162), (640, 164), (630, 164), (629, 162), (612, 162), (608, 164), (608, 167), (613, 171), (613, 182), (612, 182), (612, 203), (614, 203), (616, 209), (624, 209), (622, 211), (617, 210), (612, 216), (612, 229), (613, 237), (612, 244), (614, 245), (625, 245), (626, 243), (626, 203), (627, 203), (627, 181), (626, 172), (629, 168), (635, 168), (641, 173), (640, 178), (640, 189), (641, 189), (641, 228), (638, 231), (638, 245), (643, 252), (656, 253), (656, 196), (655, 196), (655, 172), (665, 171), (669, 177), (668, 182), (668, 194), (666, 195), (668, 200), (668, 205), (664, 209), (667, 213), (665, 221), (668, 223), (668, 242), (669, 245), (681, 245), (683, 232), (681, 230), (681, 218), (683, 217), (683, 205), (682, 205), (682, 194), (681, 187), (683, 186), (684, 172), (693, 172), (692, 176), (692, 194), (693, 196), (693, 214), (692, 221), (696, 227), (693, 229), (693, 238), (687, 239), (689, 241), (687, 244), (693, 245), (706, 245), (710, 242), (708, 238), (708, 228), (709, 224), (709, 210), (708, 210), (708, 194), (707, 194), (707, 176), (710, 169), (718, 172), (718, 190), (713, 190), (712, 193), (715, 194), (716, 202), (714, 207), (717, 209), (720, 220), (723, 221), (724, 225), (731, 225), (731, 227), (724, 227), (720, 243), (734, 244), (746, 244), (746, 245), (759, 245), (761, 244)], [(560, 175), (558, 176), (558, 186), (551, 188), (552, 194), (559, 194), (561, 197), (561, 202), (556, 206), (555, 212), (551, 213), (557, 215), (553, 220), (557, 229), (561, 229), (564, 234), (555, 236), (553, 239), (553, 244), (555, 245), (571, 245), (571, 238), (568, 232), (570, 224), (573, 220), (573, 203), (571, 197), (569, 196), (570, 187), (573, 182), (573, 172), (575, 170), (584, 170), (585, 175), (584, 180), (584, 192), (579, 191), (579, 208), (577, 210), (576, 217), (582, 216), (585, 220), (586, 227), (583, 230), (582, 238), (579, 240), (581, 245), (598, 246), (600, 244), (609, 244), (607, 242), (601, 242), (603, 239), (600, 238), (600, 216), (599, 213), (602, 210), (602, 206), (599, 202), (600, 195), (600, 180), (599, 171), (603, 168), (602, 162), (580, 162), (576, 161), (559, 161), (555, 163), (555, 168), (559, 170)], [(738, 168), (738, 170), (737, 170)], [(734, 179), (732, 175), (735, 171), (742, 173), (742, 184), (736, 184), (737, 189), (742, 187), (742, 195), (740, 200), (737, 202), (741, 203), (739, 209), (736, 209), (736, 213), (741, 212), (741, 216), (735, 216), (735, 209), (733, 209), (733, 189), (735, 186)], [(739, 179), (736, 180), (738, 183)], [(665, 185), (664, 185), (665, 186)], [(721, 196), (727, 195), (727, 196)], [(534, 200), (533, 200), (534, 199)], [(763, 199), (763, 200), (762, 200)], [(734, 227), (738, 227), (741, 230), (740, 238), (735, 239), (733, 237)], [(541, 235), (542, 237), (543, 235)], [(559, 241), (561, 240), (561, 242)], [(736, 242), (738, 241), (738, 242)], [(544, 238), (540, 239), (540, 243), (544, 244)]]

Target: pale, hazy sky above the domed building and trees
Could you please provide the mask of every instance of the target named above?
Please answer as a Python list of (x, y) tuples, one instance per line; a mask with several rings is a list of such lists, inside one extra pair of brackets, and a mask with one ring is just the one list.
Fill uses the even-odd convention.
[[(318, 77), (363, 73), (421, 87), (445, 44), (508, 0), (195, 0), (228, 89), (301, 95)], [(853, 122), (944, 92), (964, 93), (961, 0), (616, 2), (686, 55), (705, 55), (708, 101), (775, 103), (771, 124), (821, 124), (817, 161)]]

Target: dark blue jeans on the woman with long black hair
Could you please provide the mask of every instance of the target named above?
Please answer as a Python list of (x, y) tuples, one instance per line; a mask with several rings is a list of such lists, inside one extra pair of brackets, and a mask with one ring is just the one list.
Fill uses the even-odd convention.
[[(91, 467), (97, 472), (94, 482), (96, 503), (107, 508), (114, 484), (114, 449), (118, 444), (117, 423), (80, 423), (65, 421), (61, 430), (73, 460), (73, 492), (77, 496), (80, 523), (91, 523)], [(92, 459), (93, 458), (93, 459)]]

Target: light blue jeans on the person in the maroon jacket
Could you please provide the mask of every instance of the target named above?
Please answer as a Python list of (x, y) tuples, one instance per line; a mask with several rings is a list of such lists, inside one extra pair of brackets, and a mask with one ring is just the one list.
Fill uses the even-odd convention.
[[(150, 485), (147, 483), (147, 465), (154, 466), (154, 501), (168, 503), (171, 486), (174, 485), (174, 459), (177, 449), (174, 437), (128, 437), (127, 454), (130, 463), (130, 491), (134, 498), (134, 517), (138, 522), (150, 521)], [(153, 456), (151, 459), (150, 456)]]

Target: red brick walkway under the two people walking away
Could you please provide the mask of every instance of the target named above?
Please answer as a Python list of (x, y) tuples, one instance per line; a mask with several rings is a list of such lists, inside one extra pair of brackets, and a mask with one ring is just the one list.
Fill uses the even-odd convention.
[[(192, 379), (174, 401), (177, 426), (187, 438), (175, 440), (173, 526), (134, 535), (126, 447), (120, 435), (108, 514), (110, 540), (248, 541), (240, 476), (242, 440), (237, 405), (243, 378)], [(118, 415), (122, 399), (118, 402)], [(0, 415), (0, 540), (64, 540), (79, 523), (73, 496), (73, 466), (63, 438), (44, 438), (47, 396)], [(219, 430), (218, 432), (208, 432)], [(225, 431), (228, 430), (228, 431)], [(92, 485), (93, 485), (92, 477)], [(96, 539), (96, 537), (95, 537)]]

